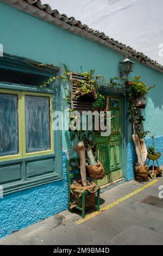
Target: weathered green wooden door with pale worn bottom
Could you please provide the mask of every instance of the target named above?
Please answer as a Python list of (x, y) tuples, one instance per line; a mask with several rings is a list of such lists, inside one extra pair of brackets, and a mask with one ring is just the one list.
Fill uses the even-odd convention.
[[(102, 100), (95, 102), (95, 107), (101, 106)], [(95, 132), (94, 139), (99, 150), (99, 161), (102, 162), (106, 175), (102, 180), (97, 180), (98, 186), (122, 177), (122, 104), (121, 97), (109, 96), (109, 110), (111, 117), (111, 135), (102, 137), (101, 133)]]

